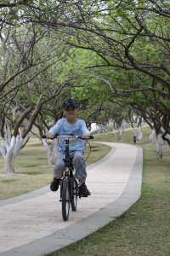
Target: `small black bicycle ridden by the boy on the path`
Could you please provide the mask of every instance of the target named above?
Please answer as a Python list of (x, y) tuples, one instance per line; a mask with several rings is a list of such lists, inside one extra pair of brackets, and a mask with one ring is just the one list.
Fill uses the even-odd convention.
[[(42, 138), (47, 138), (46, 136), (43, 136)], [(56, 135), (55, 137), (51, 138), (65, 138), (65, 172), (63, 177), (60, 181), (60, 199), (59, 201), (62, 203), (62, 217), (66, 221), (69, 218), (70, 213), (70, 207), (72, 212), (77, 211), (77, 197), (78, 197), (78, 183), (77, 179), (74, 177), (74, 166), (72, 164), (72, 159), (70, 157), (69, 152), (69, 145), (70, 140), (72, 139), (82, 139), (82, 140), (88, 140), (88, 139), (94, 139), (93, 136), (89, 137), (80, 137), (80, 136), (74, 136), (74, 135)]]

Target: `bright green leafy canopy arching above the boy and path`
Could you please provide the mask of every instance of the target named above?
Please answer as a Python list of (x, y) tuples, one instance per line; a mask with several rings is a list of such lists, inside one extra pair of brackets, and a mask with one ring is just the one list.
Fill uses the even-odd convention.
[[(56, 64), (31, 81), (32, 102), (37, 101), (41, 91), (49, 90), (50, 94), (56, 84), (71, 80), (71, 87), (58, 100), (59, 113), (65, 97), (72, 96), (81, 103), (81, 116), (89, 123), (117, 119), (121, 113), (127, 116), (132, 109), (144, 118), (152, 117), (154, 111), (167, 117), (169, 5), (168, 1), (146, 0), (41, 0), (15, 4), (10, 12), (8, 8), (1, 9), (2, 17), (14, 24), (11, 30), (17, 30), (20, 42), (25, 38), (28, 44), (32, 29), (41, 38), (28, 58), (41, 63), (21, 74), (17, 82), (23, 83), (44, 63), (48, 65), (57, 59)], [(9, 25), (5, 26), (8, 30)], [(12, 33), (10, 38), (12, 42)], [(0, 53), (4, 54), (2, 47)], [(20, 51), (15, 47), (7, 76), (14, 73), (19, 61)], [(4, 73), (2, 57), (0, 73)], [(26, 102), (23, 89), (17, 96)], [(54, 115), (54, 104), (53, 100), (43, 109), (48, 121), (59, 116)]]

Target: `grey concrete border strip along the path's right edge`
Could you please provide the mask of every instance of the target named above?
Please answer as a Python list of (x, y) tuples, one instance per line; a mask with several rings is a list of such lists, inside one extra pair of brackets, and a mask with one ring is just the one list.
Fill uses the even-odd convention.
[[(111, 154), (111, 152), (109, 154)], [(82, 219), (80, 222), (77, 222), (77, 224), (72, 224), (64, 230), (58, 230), (50, 236), (46, 236), (29, 244), (0, 253), (0, 256), (12, 256), (15, 254), (17, 254), (17, 256), (42, 256), (53, 253), (76, 241), (80, 241), (94, 231), (99, 230), (105, 226), (105, 224), (109, 224), (112, 220), (121, 216), (123, 212), (126, 212), (129, 207), (139, 200), (141, 195), (142, 171), (143, 149), (138, 148), (136, 161), (133, 165), (130, 177), (128, 178), (127, 186), (116, 201), (113, 201), (100, 211), (94, 212), (94, 214), (90, 215), (88, 218)]]

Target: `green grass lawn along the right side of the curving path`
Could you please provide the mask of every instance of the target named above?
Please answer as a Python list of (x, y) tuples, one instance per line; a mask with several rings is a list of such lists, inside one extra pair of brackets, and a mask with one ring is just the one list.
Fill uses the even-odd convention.
[[(140, 200), (104, 228), (50, 256), (170, 255), (170, 152), (157, 160), (156, 145), (147, 143), (148, 135), (149, 130), (144, 129), (144, 139), (139, 144), (144, 148)], [(115, 140), (112, 134), (96, 137), (100, 141)], [(132, 143), (132, 131), (125, 132), (122, 142)]]

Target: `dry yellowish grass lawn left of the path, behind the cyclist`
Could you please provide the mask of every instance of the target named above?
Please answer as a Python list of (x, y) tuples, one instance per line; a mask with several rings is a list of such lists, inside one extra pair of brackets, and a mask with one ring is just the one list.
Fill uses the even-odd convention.
[[(100, 160), (110, 151), (110, 147), (92, 144), (92, 152), (87, 164)], [(0, 176), (0, 200), (39, 189), (50, 183), (52, 167), (48, 165), (47, 153), (37, 139), (26, 145), (14, 163), (16, 177)], [(3, 173), (3, 158), (0, 158), (0, 174)]]

